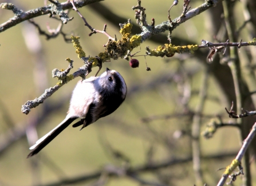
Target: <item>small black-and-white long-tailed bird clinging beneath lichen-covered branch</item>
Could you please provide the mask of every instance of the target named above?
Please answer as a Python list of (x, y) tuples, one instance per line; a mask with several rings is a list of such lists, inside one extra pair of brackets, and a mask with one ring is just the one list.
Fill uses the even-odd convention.
[(126, 95), (127, 86), (123, 76), (109, 68), (100, 76), (79, 80), (73, 90), (66, 118), (29, 148), (31, 151), (27, 158), (40, 152), (74, 120), (81, 118), (73, 127), (82, 126), (82, 130), (98, 119), (112, 114), (124, 102)]

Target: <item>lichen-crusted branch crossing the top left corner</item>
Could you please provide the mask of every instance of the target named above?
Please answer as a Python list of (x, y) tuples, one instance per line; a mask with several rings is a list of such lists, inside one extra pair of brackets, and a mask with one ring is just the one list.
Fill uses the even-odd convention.
[[(79, 0), (76, 2), (76, 7), (80, 8), (86, 5), (89, 5), (90, 3), (94, 2), (100, 2), (103, 0)], [(39, 7), (37, 9), (29, 10), (24, 12), (23, 10), (18, 10), (17, 7), (15, 7), (12, 3), (1, 3), (0, 8), (6, 9), (6, 10), (12, 10), (15, 14), (13, 18), (10, 18), (9, 21), (6, 21), (2, 25), (0, 25), (0, 33), (10, 29), (11, 27), (18, 25), (19, 23), (29, 20), (31, 18), (36, 18), (41, 15), (54, 15), (58, 14), (60, 15), (60, 18), (63, 23), (67, 23), (70, 19), (68, 16), (63, 12), (67, 9), (72, 9), (72, 4), (69, 1), (66, 1), (64, 3), (58, 3), (59, 6), (56, 6), (54, 4), (50, 4), (47, 6)]]

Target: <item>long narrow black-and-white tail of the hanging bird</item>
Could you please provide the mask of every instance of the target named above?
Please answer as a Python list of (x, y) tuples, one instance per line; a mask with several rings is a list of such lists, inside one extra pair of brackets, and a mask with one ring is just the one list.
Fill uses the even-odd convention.
[(60, 134), (66, 127), (69, 126), (70, 123), (72, 123), (77, 118), (78, 117), (76, 116), (66, 116), (66, 118), (60, 124), (58, 124), (57, 127), (53, 128), (52, 131), (48, 132), (48, 134), (44, 135), (42, 138), (37, 140), (36, 144), (29, 148), (32, 151), (29, 153), (29, 155), (27, 155), (27, 158), (34, 156), (38, 152), (40, 152), (42, 148), (44, 148), (48, 143), (50, 143), (50, 141), (52, 141), (58, 134)]

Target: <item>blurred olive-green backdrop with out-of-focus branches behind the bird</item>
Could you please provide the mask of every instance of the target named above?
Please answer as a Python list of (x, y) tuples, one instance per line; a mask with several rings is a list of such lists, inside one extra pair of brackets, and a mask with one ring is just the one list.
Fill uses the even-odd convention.
[[(2, 2), (11, 2), (22, 10), (44, 6), (44, 1), (0, 0)], [(191, 1), (191, 9), (202, 3)], [(256, 3), (254, 0), (231, 3), (238, 29), (248, 15), (253, 14), (251, 10), (256, 10)], [(135, 5), (136, 0), (106, 0), (79, 11), (95, 29), (101, 30), (107, 24), (108, 34), (119, 39), (119, 23), (127, 19), (134, 25), (134, 34), (141, 32), (131, 9)], [(141, 3), (146, 9), (148, 23), (154, 18), (155, 25), (168, 20), (167, 11), (171, 5), (169, 0)], [(180, 1), (172, 7), (171, 18), (179, 17), (182, 11), (183, 2)], [(11, 17), (11, 11), (0, 9), (0, 23)], [(64, 25), (63, 31), (80, 36), (86, 55), (95, 56), (104, 51), (103, 45), (108, 41), (105, 35), (89, 37), (90, 30), (78, 14), (70, 11), (69, 17), (74, 19)], [(251, 17), (251, 22), (237, 33), (234, 42), (251, 41), (256, 37), (255, 17)], [(43, 30), (47, 30), (46, 25), (51, 29), (58, 26), (58, 21), (47, 15), (33, 20)], [(146, 46), (152, 49), (168, 43), (167, 34), (154, 35), (132, 53), (140, 51), (137, 55), (144, 55)], [(28, 35), (33, 39), (26, 40)], [(172, 44), (181, 46), (200, 45), (202, 39), (226, 42), (227, 38), (222, 2), (172, 31)], [(127, 99), (120, 108), (82, 131), (68, 127), (38, 155), (26, 159), (31, 145), (26, 134), (36, 134), (31, 126), (37, 126), (40, 138), (60, 123), (66, 116), (70, 95), (79, 78), (65, 84), (43, 104), (33, 108), (29, 115), (22, 114), (21, 106), (57, 83), (57, 79), (52, 79), (52, 70), (66, 69), (66, 58), (74, 60), (72, 71), (81, 67), (82, 62), (72, 44), (66, 43), (61, 35), (46, 41), (29, 22), (0, 33), (0, 45), (0, 185), (61, 185), (61, 180), (74, 180), (70, 185), (216, 185), (223, 173), (217, 170), (225, 168), (235, 158), (241, 138), (246, 137), (255, 122), (255, 117), (242, 121), (230, 119), (225, 111), (225, 107), (229, 110), (231, 101), (237, 104), (233, 76), (228, 63), (223, 62), (224, 57), (229, 57), (230, 48), (224, 55), (223, 52), (215, 54), (211, 63), (207, 59), (208, 48), (195, 51), (195, 54), (175, 54), (171, 58), (148, 56), (146, 60), (151, 71), (145, 70), (144, 56), (136, 57), (140, 61), (139, 68), (131, 68), (124, 59), (111, 60), (103, 64), (103, 69), (119, 71), (128, 87)], [(238, 52), (239, 70), (247, 91), (255, 91), (255, 46), (234, 50)], [(92, 75), (96, 71), (97, 68), (93, 68)], [(202, 99), (202, 91), (205, 99)], [(254, 96), (247, 96), (250, 98), (243, 101), (245, 110), (255, 110)], [(199, 103), (202, 103), (201, 110)], [(193, 131), (196, 117), (199, 129)], [(241, 135), (238, 127), (228, 126), (218, 128), (210, 139), (199, 135), (196, 145), (199, 145), (201, 159), (196, 169), (192, 161), (192, 141), (195, 141), (192, 136), (196, 132), (200, 134), (207, 123), (216, 118), (221, 118), (223, 123), (240, 124), (244, 132)], [(253, 144), (250, 175), (256, 174)], [(198, 173), (201, 178), (196, 176)], [(238, 177), (234, 185), (248, 185), (245, 177)], [(256, 185), (255, 176), (251, 176), (251, 185)]]

